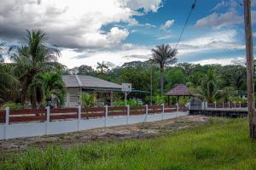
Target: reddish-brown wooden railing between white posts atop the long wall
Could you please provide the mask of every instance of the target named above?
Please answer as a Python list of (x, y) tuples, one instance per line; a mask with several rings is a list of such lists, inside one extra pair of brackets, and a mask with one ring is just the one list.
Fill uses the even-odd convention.
[[(15, 122), (55, 122), (71, 119), (91, 119), (106, 116), (152, 115), (165, 112), (188, 111), (185, 106), (176, 105), (143, 105), (143, 106), (104, 106), (94, 108), (64, 108), (64, 109), (26, 109), (0, 111), (0, 123)], [(48, 118), (49, 117), (49, 118)], [(48, 120), (49, 119), (49, 120)]]

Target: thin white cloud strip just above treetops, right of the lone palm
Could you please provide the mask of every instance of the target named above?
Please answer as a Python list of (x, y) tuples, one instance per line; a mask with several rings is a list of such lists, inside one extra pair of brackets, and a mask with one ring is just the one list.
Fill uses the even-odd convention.
[[(240, 61), (237, 63), (236, 61)], [(212, 65), (212, 64), (219, 64), (219, 65), (235, 65), (245, 63), (245, 57), (236, 57), (236, 58), (222, 58), (222, 59), (201, 59), (197, 61), (191, 62), (193, 64), (201, 64), (201, 65)]]

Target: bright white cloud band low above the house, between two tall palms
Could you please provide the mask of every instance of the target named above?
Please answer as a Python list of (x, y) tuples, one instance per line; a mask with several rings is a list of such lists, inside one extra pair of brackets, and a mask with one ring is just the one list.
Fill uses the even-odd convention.
[(61, 51), (59, 62), (67, 65), (68, 68), (79, 65), (91, 65), (96, 67), (97, 62), (108, 61), (115, 65), (122, 65), (135, 59), (147, 60), (151, 55), (151, 47), (125, 44), (120, 49), (106, 49), (101, 51), (77, 52), (73, 49)]

